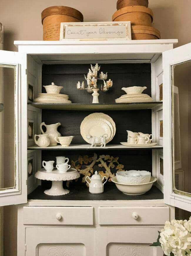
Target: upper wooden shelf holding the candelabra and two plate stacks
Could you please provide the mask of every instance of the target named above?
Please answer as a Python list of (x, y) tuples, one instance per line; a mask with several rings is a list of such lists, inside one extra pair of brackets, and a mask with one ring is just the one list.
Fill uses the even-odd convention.
[(37, 103), (28, 105), (40, 109), (55, 110), (140, 110), (153, 109), (162, 106), (162, 102), (133, 102), (133, 103)]

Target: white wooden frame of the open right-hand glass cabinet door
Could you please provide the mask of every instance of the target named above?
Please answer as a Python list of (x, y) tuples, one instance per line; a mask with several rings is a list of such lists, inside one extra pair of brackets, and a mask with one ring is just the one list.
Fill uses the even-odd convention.
[(172, 90), (171, 66), (191, 59), (191, 43), (162, 53), (163, 57), (163, 158), (164, 202), (191, 211), (191, 198), (173, 193), (172, 177)]

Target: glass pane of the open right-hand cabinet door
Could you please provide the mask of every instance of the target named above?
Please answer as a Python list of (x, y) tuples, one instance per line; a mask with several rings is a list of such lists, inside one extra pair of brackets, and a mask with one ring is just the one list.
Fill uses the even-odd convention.
[(173, 65), (171, 72), (173, 191), (191, 197), (191, 61)]

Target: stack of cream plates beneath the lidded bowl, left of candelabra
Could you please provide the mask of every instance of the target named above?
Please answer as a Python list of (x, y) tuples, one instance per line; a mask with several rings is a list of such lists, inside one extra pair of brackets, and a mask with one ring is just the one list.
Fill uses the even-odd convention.
[(39, 103), (71, 103), (69, 96), (60, 93), (38, 93), (37, 98), (33, 102)]

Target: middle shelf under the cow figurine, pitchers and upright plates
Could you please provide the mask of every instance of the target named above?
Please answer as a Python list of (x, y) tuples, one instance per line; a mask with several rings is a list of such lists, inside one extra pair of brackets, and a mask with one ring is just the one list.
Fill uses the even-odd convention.
[(70, 145), (69, 147), (62, 147), (61, 145), (57, 146), (48, 146), (46, 148), (41, 148), (39, 146), (30, 146), (27, 149), (29, 150), (116, 150), (116, 149), (123, 149), (123, 150), (128, 150), (128, 149), (162, 149), (163, 147), (160, 145), (155, 145), (152, 147), (126, 147), (121, 144), (119, 145), (107, 145), (105, 148), (97, 146), (96, 148), (91, 148), (90, 144), (84, 144), (84, 145)]

